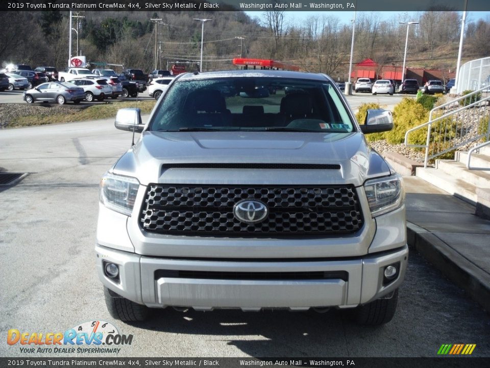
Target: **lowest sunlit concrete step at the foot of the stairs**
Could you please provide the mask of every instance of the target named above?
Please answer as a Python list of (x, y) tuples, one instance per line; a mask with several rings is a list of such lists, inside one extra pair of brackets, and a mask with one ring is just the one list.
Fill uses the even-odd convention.
[(473, 205), (477, 203), (476, 186), (457, 176), (435, 168), (416, 168), (416, 176)]

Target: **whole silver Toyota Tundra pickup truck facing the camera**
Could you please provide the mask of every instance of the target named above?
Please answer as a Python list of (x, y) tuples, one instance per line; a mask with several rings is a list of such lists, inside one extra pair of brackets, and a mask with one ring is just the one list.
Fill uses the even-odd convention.
[(402, 178), (323, 74), (182, 74), (101, 181), (96, 264), (114, 318), (151, 308), (348, 309), (388, 322), (407, 268)]

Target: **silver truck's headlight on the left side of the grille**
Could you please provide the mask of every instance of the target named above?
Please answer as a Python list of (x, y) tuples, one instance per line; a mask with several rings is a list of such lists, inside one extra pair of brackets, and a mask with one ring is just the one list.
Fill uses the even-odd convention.
[(131, 216), (138, 187), (136, 178), (106, 173), (101, 180), (101, 203), (111, 210)]

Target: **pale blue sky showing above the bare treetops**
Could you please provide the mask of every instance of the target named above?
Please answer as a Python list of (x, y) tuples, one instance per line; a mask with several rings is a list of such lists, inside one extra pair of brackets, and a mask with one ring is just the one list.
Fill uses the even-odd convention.
[[(263, 11), (247, 11), (246, 12), (250, 17), (262, 17)], [(353, 11), (286, 11), (285, 19), (286, 21), (291, 22), (292, 24), (298, 24), (301, 21), (304, 21), (310, 16), (321, 15), (324, 13), (325, 15), (335, 16), (340, 19), (341, 22), (348, 24), (354, 18)], [(388, 20), (393, 17), (396, 17), (399, 21), (416, 21), (418, 14), (416, 12), (367, 12), (367, 13), (376, 13), (376, 15), (380, 16), (382, 20)], [(461, 13), (462, 14), (462, 13)], [(462, 15), (461, 15), (462, 16)], [(484, 19), (490, 21), (490, 11), (488, 12), (467, 12), (467, 23), (470, 21), (477, 21), (478, 19)]]

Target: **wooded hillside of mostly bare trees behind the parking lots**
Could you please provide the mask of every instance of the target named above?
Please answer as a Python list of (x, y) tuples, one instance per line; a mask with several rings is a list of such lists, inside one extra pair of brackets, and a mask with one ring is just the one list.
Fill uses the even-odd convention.
[[(259, 13), (260, 14), (260, 13)], [(297, 64), (301, 70), (347, 77), (352, 25), (334, 12), (321, 12), (301, 24), (286, 21), (285, 12), (264, 12), (251, 18), (244, 12), (80, 12), (72, 27), (78, 30), (79, 52), (87, 61), (166, 69), (187, 62), (197, 70), (204, 31), (203, 70), (233, 68), (235, 57), (275, 59)], [(420, 25), (410, 27), (407, 66), (454, 70), (459, 45), (460, 13), (427, 11), (418, 14)], [(161, 19), (156, 22), (151, 19)], [(381, 20), (374, 13), (358, 12), (354, 62), (371, 58), (378, 64), (401, 65), (406, 26), (400, 19)], [(0, 62), (54, 65), (62, 70), (68, 60), (68, 12), (0, 13)], [(155, 39), (157, 29), (157, 39)], [(29, 31), (27, 31), (29, 30)], [(72, 31), (72, 55), (77, 34)], [(490, 22), (468, 22), (463, 62), (490, 56)], [(157, 42), (157, 43), (156, 43)]]

